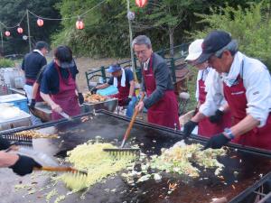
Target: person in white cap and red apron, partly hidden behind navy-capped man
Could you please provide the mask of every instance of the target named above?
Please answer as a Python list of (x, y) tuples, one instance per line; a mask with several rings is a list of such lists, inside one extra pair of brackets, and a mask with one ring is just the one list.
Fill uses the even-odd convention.
[[(195, 61), (201, 55), (202, 42), (203, 42), (202, 39), (192, 42), (191, 45), (189, 46), (189, 54), (185, 59), (192, 66), (195, 66), (197, 69), (200, 69), (198, 72), (198, 77), (197, 77), (196, 97), (199, 102), (197, 109), (200, 109), (200, 106), (203, 105), (206, 100), (206, 95), (207, 95), (206, 84), (210, 84), (209, 80), (212, 79), (210, 77), (212, 74), (209, 74), (209, 73), (212, 71), (215, 71), (214, 69), (211, 69), (210, 67), (208, 67), (207, 62), (196, 64), (196, 65), (194, 64)], [(184, 136), (185, 137), (189, 136), (196, 125), (199, 125), (198, 134), (205, 137), (211, 137), (214, 134), (220, 134), (224, 131), (225, 127), (230, 127), (231, 115), (229, 111), (226, 113), (222, 111), (221, 109), (222, 108), (221, 105), (223, 105), (222, 102), (225, 103), (225, 99), (221, 100), (220, 109), (216, 111), (215, 115), (211, 115), (210, 117), (205, 117), (199, 123), (193, 122), (192, 121), (193, 118), (192, 118), (191, 121), (185, 124), (184, 129), (183, 129)]]

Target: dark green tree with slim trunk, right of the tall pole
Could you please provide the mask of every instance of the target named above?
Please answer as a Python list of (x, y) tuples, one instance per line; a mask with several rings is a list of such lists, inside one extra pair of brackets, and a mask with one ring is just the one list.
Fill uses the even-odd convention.
[[(241, 0), (239, 5), (246, 5), (247, 1)], [(236, 5), (236, 1), (200, 1), (200, 0), (150, 0), (148, 5), (142, 8), (134, 7), (139, 15), (135, 21), (135, 32), (144, 32), (152, 29), (153, 32), (164, 31), (168, 36), (168, 42), (173, 55), (173, 46), (176, 42), (183, 42), (185, 30), (201, 29), (202, 25), (196, 24), (199, 18), (194, 13), (209, 14), (210, 6)], [(138, 25), (138, 26), (136, 26)], [(164, 43), (162, 43), (164, 45)]]

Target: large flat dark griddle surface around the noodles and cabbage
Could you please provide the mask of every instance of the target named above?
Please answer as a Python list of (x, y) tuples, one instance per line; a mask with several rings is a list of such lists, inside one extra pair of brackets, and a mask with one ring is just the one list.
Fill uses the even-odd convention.
[[(98, 115), (85, 114), (89, 116), (87, 122), (82, 123), (80, 117), (72, 121), (61, 120), (51, 122), (46, 125), (33, 126), (44, 134), (59, 134), (60, 139), (34, 139), (33, 148), (51, 155), (63, 157), (66, 152), (73, 149), (80, 143), (85, 143), (96, 136), (101, 136), (105, 142), (120, 144), (123, 134), (125, 134), (128, 120), (125, 117), (113, 115), (107, 111), (99, 111)], [(29, 129), (29, 128), (25, 128)], [(21, 130), (25, 130), (21, 129)], [(6, 131), (5, 134), (13, 134), (15, 131)], [(147, 155), (159, 154), (162, 148), (168, 148), (182, 140), (182, 132), (175, 132), (172, 129), (148, 125), (137, 121), (130, 134), (133, 144), (139, 144), (142, 152)], [(154, 142), (155, 141), (155, 142)], [(204, 143), (205, 139), (197, 136), (188, 143)], [(130, 143), (127, 143), (129, 145)], [(240, 147), (232, 144), (229, 148), (228, 156), (219, 158), (219, 161), (226, 167), (221, 175), (224, 180), (216, 177), (214, 171), (202, 171), (201, 177), (192, 179), (187, 176), (176, 174), (164, 174), (164, 179), (160, 182), (147, 180), (143, 183), (130, 186), (121, 176), (114, 179), (108, 178), (104, 183), (98, 183), (89, 189), (85, 198), (79, 198), (81, 193), (67, 196), (63, 202), (210, 202), (212, 198), (226, 197), (229, 202), (238, 202), (234, 198), (243, 190), (248, 189), (271, 169), (271, 152), (261, 151), (252, 148)], [(238, 172), (238, 175), (236, 175)], [(235, 173), (235, 174), (234, 174)], [(29, 202), (37, 201), (37, 194), (27, 195), (22, 198), (23, 191), (14, 193), (13, 185), (16, 176), (8, 170), (0, 170), (0, 195), (5, 202)], [(30, 176), (20, 178), (23, 183), (31, 182)], [(38, 187), (43, 188), (48, 185), (50, 177), (39, 175), (36, 177)], [(5, 184), (5, 182), (9, 184)], [(169, 183), (177, 183), (178, 187), (170, 195), (167, 194)], [(8, 187), (6, 186), (8, 185)], [(58, 183), (50, 189), (58, 189), (60, 194), (66, 194), (69, 190)], [(50, 191), (50, 189), (47, 189)], [(116, 191), (111, 190), (116, 189)], [(8, 190), (9, 192), (6, 192)], [(46, 189), (44, 190), (46, 191)], [(44, 193), (43, 191), (43, 193)], [(25, 193), (25, 192), (24, 192)], [(44, 200), (44, 198), (43, 198)], [(45, 200), (44, 200), (45, 202)]]

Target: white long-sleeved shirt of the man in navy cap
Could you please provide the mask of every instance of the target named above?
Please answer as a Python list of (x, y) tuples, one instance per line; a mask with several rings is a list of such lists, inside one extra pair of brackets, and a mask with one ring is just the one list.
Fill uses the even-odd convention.
[[(244, 61), (243, 69), (242, 61)], [(266, 119), (271, 112), (271, 77), (266, 66), (259, 60), (248, 58), (241, 52), (237, 52), (231, 64), (229, 74), (223, 73), (222, 80), (225, 81), (227, 86), (232, 85), (232, 81), (240, 74), (243, 79), (244, 88), (246, 88), (247, 115), (260, 122), (258, 127), (266, 125)], [(214, 106), (223, 97), (223, 86), (218, 88), (219, 73), (214, 74), (213, 85), (208, 89), (206, 101), (201, 105), (200, 112), (203, 115), (214, 114)], [(219, 77), (220, 78), (220, 77)]]

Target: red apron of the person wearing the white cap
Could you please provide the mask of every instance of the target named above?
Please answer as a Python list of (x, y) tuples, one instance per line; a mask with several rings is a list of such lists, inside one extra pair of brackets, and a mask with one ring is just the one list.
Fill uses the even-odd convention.
[[(199, 101), (200, 104), (202, 105), (205, 102), (207, 95), (207, 92), (205, 91), (205, 84), (203, 81), (203, 71), (201, 79), (199, 79), (198, 81), (198, 86), (199, 86)], [(222, 133), (225, 127), (230, 126), (231, 126), (231, 114), (229, 112), (224, 113), (222, 119), (217, 124), (211, 123), (209, 117), (206, 117), (199, 122), (198, 134), (205, 137), (211, 137), (214, 134)]]

